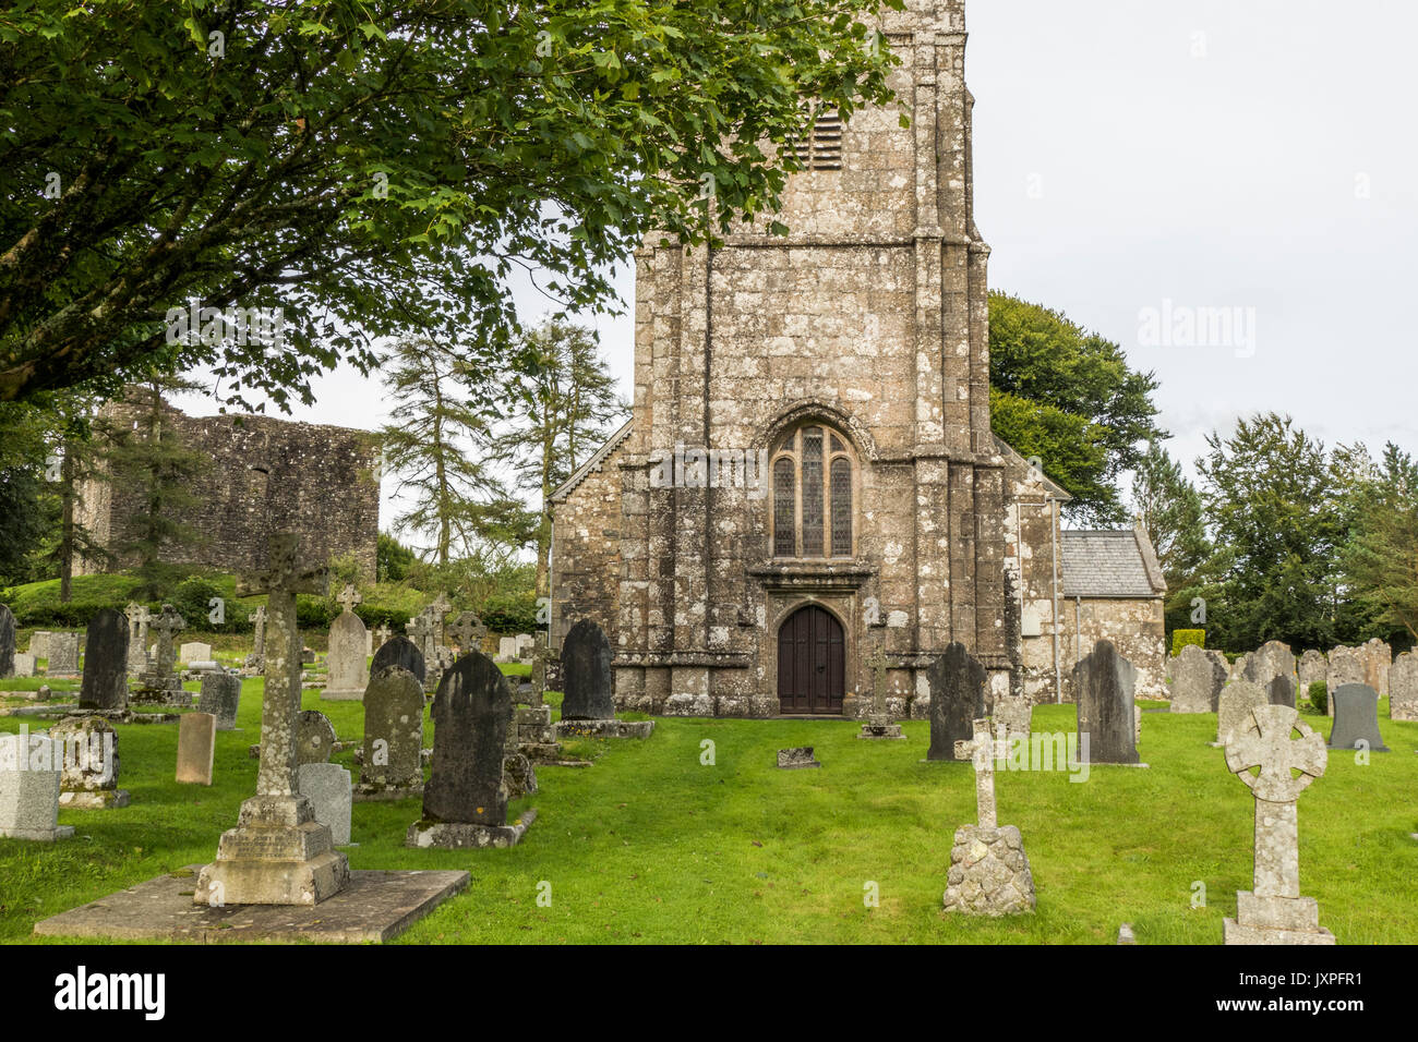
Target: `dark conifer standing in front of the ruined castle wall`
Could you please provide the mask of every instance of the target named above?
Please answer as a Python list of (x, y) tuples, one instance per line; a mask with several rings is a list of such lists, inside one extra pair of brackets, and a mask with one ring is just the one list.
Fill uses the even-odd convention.
[(136, 491), (140, 503), (129, 527), (115, 533), (109, 546), (113, 559), (133, 563), (132, 574), (142, 581), (132, 595), (139, 600), (163, 597), (183, 573), (173, 563), (176, 551), (201, 539), (183, 515), (197, 500), (193, 479), (211, 459), (167, 422), (163, 400), (164, 393), (194, 390), (200, 386), (190, 380), (155, 373), (146, 386), (129, 390), (125, 408), (95, 421), (104, 442), (99, 466), (115, 489)]

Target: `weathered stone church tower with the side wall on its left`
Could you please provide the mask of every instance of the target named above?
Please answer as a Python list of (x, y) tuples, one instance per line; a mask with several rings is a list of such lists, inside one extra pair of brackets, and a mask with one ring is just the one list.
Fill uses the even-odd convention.
[(898, 103), (824, 113), (787, 237), (637, 254), (632, 418), (553, 496), (552, 637), (601, 622), (624, 709), (858, 716), (883, 652), (919, 717), (951, 641), (1008, 692), (964, 3), (906, 6)]

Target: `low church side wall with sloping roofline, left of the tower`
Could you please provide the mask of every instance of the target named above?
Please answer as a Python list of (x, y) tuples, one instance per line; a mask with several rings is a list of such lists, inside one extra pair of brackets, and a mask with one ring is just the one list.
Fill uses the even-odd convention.
[(621, 451), (586, 475), (566, 499), (553, 506), (552, 646), (588, 618), (610, 637), (617, 629), (620, 591)]

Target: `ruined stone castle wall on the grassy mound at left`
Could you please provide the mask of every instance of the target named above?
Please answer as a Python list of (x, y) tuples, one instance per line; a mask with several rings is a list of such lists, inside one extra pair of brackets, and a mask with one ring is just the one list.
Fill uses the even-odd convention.
[[(105, 414), (128, 422), (133, 410), (115, 403)], [(373, 578), (377, 435), (258, 415), (189, 417), (166, 404), (163, 422), (189, 449), (207, 456), (190, 482), (193, 503), (177, 515), (200, 542), (174, 547), (170, 563), (248, 570), (264, 561), (271, 533), (295, 532), (308, 560), (354, 554)], [(146, 510), (140, 488), (104, 475), (86, 482), (79, 498), (84, 523), (105, 547), (130, 540)], [(81, 571), (94, 570), (92, 563), (81, 564)]]

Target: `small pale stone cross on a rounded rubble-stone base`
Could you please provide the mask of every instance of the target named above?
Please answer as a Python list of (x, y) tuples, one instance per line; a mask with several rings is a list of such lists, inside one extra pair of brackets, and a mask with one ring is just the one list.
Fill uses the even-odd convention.
[(967, 916), (1014, 916), (1037, 903), (1034, 873), (1024, 839), (1014, 825), (1000, 827), (994, 802), (994, 764), (1007, 756), (1005, 743), (990, 736), (990, 722), (973, 722), (974, 737), (959, 743), (956, 757), (973, 760), (977, 825), (956, 829), (943, 904)]

